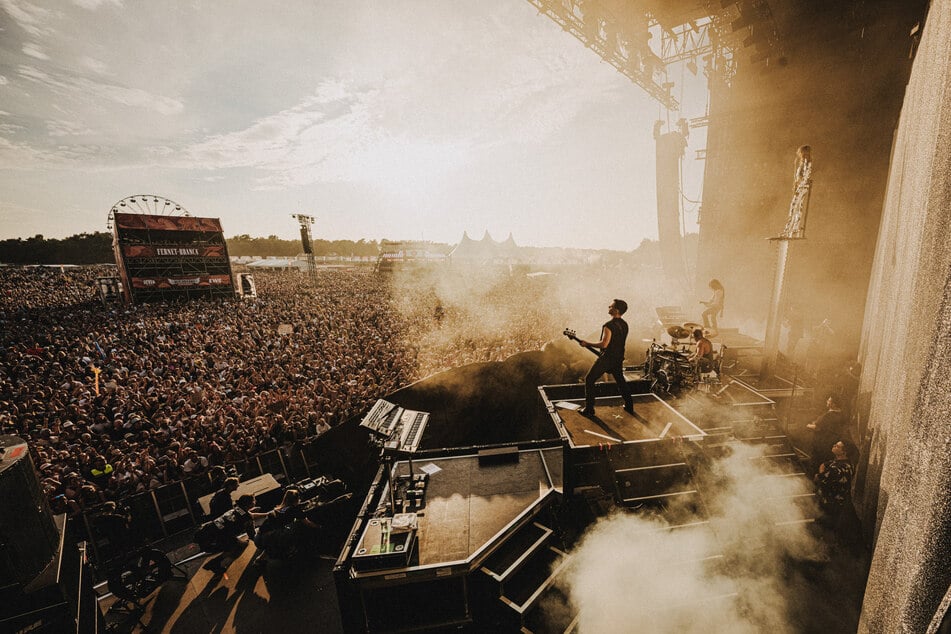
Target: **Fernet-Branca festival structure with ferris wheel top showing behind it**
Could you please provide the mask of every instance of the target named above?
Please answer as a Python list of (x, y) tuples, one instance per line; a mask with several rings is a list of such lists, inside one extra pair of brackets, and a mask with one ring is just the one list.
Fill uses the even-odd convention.
[(234, 295), (218, 218), (198, 218), (162, 196), (137, 194), (112, 206), (109, 227), (126, 303)]

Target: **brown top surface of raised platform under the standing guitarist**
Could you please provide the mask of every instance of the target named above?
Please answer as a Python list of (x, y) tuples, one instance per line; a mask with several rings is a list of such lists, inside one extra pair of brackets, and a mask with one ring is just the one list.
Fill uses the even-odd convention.
[(654, 394), (634, 395), (634, 416), (624, 411), (619, 396), (597, 399), (595, 415), (591, 417), (573, 409), (583, 406), (583, 399), (562, 399), (553, 405), (574, 447), (671, 437), (695, 440), (705, 435), (702, 429)]

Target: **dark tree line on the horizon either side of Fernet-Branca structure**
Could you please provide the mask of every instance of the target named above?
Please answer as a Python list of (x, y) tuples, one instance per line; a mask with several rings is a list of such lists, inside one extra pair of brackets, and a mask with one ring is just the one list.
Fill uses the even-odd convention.
[[(255, 238), (248, 234), (225, 240), (228, 255), (266, 257), (295, 256), (303, 251), (300, 240), (282, 240), (271, 235)], [(313, 240), (314, 255), (375, 256), (380, 252), (376, 240)], [(109, 264), (115, 262), (112, 234), (97, 231), (68, 238), (9, 238), (0, 240), (0, 262), (4, 264)]]

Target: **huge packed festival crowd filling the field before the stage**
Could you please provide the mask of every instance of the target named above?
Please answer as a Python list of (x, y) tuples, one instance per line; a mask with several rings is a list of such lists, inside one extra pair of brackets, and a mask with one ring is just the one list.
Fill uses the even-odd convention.
[(327, 269), (256, 272), (253, 301), (106, 308), (108, 275), (0, 267), (0, 432), (28, 441), (56, 512), (289, 447), (420, 377), (596, 328), (610, 299), (564, 275)]

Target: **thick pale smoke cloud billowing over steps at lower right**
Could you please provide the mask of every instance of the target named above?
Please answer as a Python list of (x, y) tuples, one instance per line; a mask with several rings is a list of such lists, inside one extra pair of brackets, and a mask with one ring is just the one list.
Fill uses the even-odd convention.
[(794, 631), (783, 575), (790, 561), (823, 547), (794, 497), (804, 479), (771, 473), (764, 455), (737, 445), (712, 465), (705, 516), (675, 527), (657, 515), (616, 513), (592, 526), (561, 582), (579, 631)]

